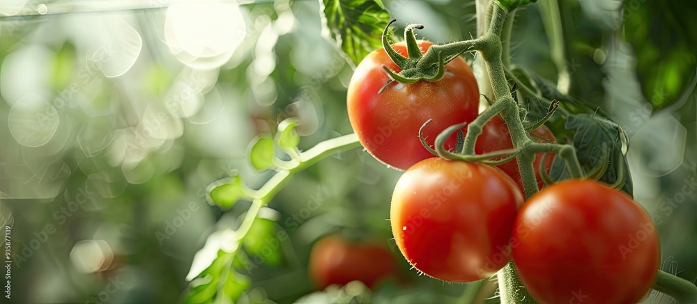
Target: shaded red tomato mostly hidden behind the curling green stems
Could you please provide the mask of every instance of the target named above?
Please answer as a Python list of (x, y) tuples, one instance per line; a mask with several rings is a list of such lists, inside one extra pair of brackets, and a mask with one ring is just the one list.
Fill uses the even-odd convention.
[[(554, 139), (554, 134), (549, 130), (548, 127), (542, 125), (532, 132), (530, 136), (533, 136), (533, 140), (537, 140), (538, 143), (556, 143)], [(508, 131), (508, 126), (503, 119), (498, 115), (491, 118), (489, 122), (482, 128), (482, 134), (477, 137), (477, 143), (475, 144), (475, 152), (477, 154), (484, 154), (489, 152), (494, 152), (496, 150), (506, 150), (513, 149), (513, 142), (511, 141), (511, 134)], [(537, 177), (537, 186), (542, 189), (544, 182), (539, 177), (539, 163), (542, 162), (542, 156), (544, 153), (535, 154), (535, 162), (533, 166), (535, 168), (535, 177)], [(547, 154), (544, 160), (544, 168), (549, 174), (549, 169), (552, 167), (552, 161), (554, 160), (554, 154)], [(523, 189), (523, 179), (521, 179), (521, 173), (518, 170), (518, 161), (516, 159), (503, 163), (502, 165), (496, 166), (497, 168), (503, 170), (508, 176), (513, 177), (516, 184)]]

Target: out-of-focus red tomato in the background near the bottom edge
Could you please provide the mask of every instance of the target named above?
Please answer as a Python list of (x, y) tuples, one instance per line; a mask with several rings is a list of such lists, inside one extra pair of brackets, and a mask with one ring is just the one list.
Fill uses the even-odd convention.
[(319, 289), (359, 280), (375, 287), (397, 275), (397, 261), (387, 246), (376, 242), (352, 242), (332, 234), (317, 241), (310, 252), (309, 275)]

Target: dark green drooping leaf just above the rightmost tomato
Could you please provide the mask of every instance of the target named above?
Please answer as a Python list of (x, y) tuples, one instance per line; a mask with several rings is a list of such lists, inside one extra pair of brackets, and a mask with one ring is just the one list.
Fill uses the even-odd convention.
[[(622, 174), (626, 179), (621, 190), (631, 195), (631, 175), (623, 154), (628, 148), (625, 131), (615, 122), (590, 114), (569, 115), (566, 129), (572, 131), (576, 156), (585, 172), (588, 173), (602, 162), (609, 161), (609, 166), (599, 180), (613, 184)], [(554, 180), (569, 178), (566, 163), (560, 157), (555, 157), (550, 176)]]

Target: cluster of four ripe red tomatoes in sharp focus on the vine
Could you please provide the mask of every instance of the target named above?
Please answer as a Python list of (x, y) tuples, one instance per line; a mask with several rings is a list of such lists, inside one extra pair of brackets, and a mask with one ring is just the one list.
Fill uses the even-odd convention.
[[(419, 42), (422, 53), (430, 42)], [(406, 53), (404, 44), (394, 46)], [(476, 81), (461, 58), (441, 81), (388, 83), (385, 51), (369, 54), (348, 88), (348, 115), (376, 159), (406, 169), (390, 206), (392, 233), (418, 271), (450, 282), (487, 278), (513, 260), (530, 294), (542, 303), (636, 303), (656, 280), (659, 241), (651, 218), (624, 193), (589, 179), (542, 188), (525, 202), (516, 160), (497, 167), (434, 157), (422, 146), (450, 125), (477, 117)], [(385, 86), (385, 83), (388, 83)], [(530, 133), (555, 143), (542, 126)], [(445, 143), (453, 150), (455, 138)], [(505, 122), (482, 127), (475, 152), (512, 149)], [(553, 156), (535, 155), (549, 173)], [(580, 303), (580, 302), (579, 302)]]

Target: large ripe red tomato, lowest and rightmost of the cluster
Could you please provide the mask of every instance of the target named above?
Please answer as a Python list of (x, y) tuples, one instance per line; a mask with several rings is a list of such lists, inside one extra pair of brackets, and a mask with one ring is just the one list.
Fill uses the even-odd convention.
[(625, 193), (593, 180), (560, 182), (533, 195), (516, 217), (512, 243), (518, 275), (542, 303), (574, 296), (583, 303), (638, 303), (659, 268), (650, 216)]

